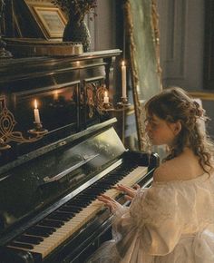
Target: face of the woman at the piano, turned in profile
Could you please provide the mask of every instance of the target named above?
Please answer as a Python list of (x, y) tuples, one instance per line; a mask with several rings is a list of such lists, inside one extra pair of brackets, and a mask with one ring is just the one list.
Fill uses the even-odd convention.
[(172, 146), (180, 130), (180, 122), (166, 122), (154, 114), (146, 120), (146, 132), (152, 145), (167, 144), (169, 147)]

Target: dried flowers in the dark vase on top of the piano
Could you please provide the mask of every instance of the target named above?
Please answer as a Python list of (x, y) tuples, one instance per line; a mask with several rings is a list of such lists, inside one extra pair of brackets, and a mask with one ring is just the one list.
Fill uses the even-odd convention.
[[(97, 0), (52, 0), (53, 5), (58, 5), (68, 16), (75, 16), (79, 22), (83, 21), (86, 14), (95, 16), (94, 8)], [(90, 17), (92, 20), (92, 17)]]

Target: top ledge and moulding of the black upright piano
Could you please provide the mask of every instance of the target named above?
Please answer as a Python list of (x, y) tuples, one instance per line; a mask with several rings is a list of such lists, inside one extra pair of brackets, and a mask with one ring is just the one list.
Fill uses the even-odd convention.
[[(0, 84), (12, 83), (17, 80), (36, 79), (44, 75), (53, 75), (66, 71), (79, 70), (90, 66), (92, 63), (103, 63), (102, 59), (118, 56), (122, 53), (119, 49), (87, 52), (73, 56), (41, 56), (5, 59), (0, 64)], [(77, 65), (76, 62), (82, 62)]]

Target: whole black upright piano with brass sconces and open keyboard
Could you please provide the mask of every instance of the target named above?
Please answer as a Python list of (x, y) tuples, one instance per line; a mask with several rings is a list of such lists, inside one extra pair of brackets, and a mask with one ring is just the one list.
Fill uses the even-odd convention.
[(118, 54), (0, 65), (1, 263), (83, 263), (111, 239), (112, 214), (97, 196), (128, 205), (113, 185), (150, 186), (158, 156), (126, 149), (97, 104), (101, 87), (113, 93)]

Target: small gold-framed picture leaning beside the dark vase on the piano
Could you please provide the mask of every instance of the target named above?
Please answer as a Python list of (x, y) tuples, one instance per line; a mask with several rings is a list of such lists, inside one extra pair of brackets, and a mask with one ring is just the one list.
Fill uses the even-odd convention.
[(63, 12), (55, 6), (33, 5), (34, 17), (47, 39), (62, 38), (66, 24)]

